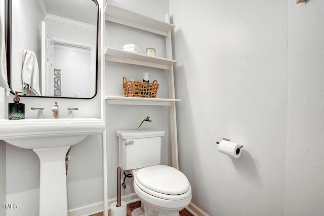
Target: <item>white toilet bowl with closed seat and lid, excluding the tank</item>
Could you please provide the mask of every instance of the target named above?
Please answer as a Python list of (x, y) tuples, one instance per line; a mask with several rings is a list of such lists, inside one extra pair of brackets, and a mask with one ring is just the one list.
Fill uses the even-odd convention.
[[(166, 165), (132, 170), (134, 190), (147, 214), (132, 216), (176, 216), (191, 201), (191, 186), (181, 171)], [(146, 210), (144, 210), (147, 208)]]

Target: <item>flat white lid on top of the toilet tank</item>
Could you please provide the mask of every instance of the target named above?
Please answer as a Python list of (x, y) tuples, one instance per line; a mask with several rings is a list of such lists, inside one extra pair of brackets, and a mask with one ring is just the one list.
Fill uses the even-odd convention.
[(116, 134), (121, 139), (134, 139), (134, 138), (145, 138), (145, 137), (161, 137), (165, 135), (165, 132), (158, 131), (155, 129), (139, 129), (139, 130), (117, 131)]

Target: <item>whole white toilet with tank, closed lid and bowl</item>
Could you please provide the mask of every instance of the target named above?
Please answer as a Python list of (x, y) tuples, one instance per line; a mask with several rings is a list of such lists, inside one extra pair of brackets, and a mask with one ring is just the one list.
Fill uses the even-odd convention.
[(132, 216), (179, 216), (191, 201), (191, 186), (178, 169), (161, 165), (161, 136), (153, 129), (117, 131), (119, 166), (134, 177), (142, 206)]

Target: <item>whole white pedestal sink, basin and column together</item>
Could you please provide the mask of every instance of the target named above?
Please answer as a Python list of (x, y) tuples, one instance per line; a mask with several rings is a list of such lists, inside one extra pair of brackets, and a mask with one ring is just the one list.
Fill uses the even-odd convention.
[(65, 155), (70, 146), (104, 129), (97, 118), (0, 120), (0, 140), (39, 157), (39, 215), (67, 215)]

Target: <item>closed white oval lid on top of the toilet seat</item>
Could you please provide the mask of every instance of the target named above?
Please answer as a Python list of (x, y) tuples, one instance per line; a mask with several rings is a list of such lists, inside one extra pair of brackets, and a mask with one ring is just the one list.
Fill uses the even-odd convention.
[(149, 190), (168, 195), (183, 194), (190, 188), (187, 177), (181, 171), (166, 165), (141, 168), (136, 173), (136, 180)]

